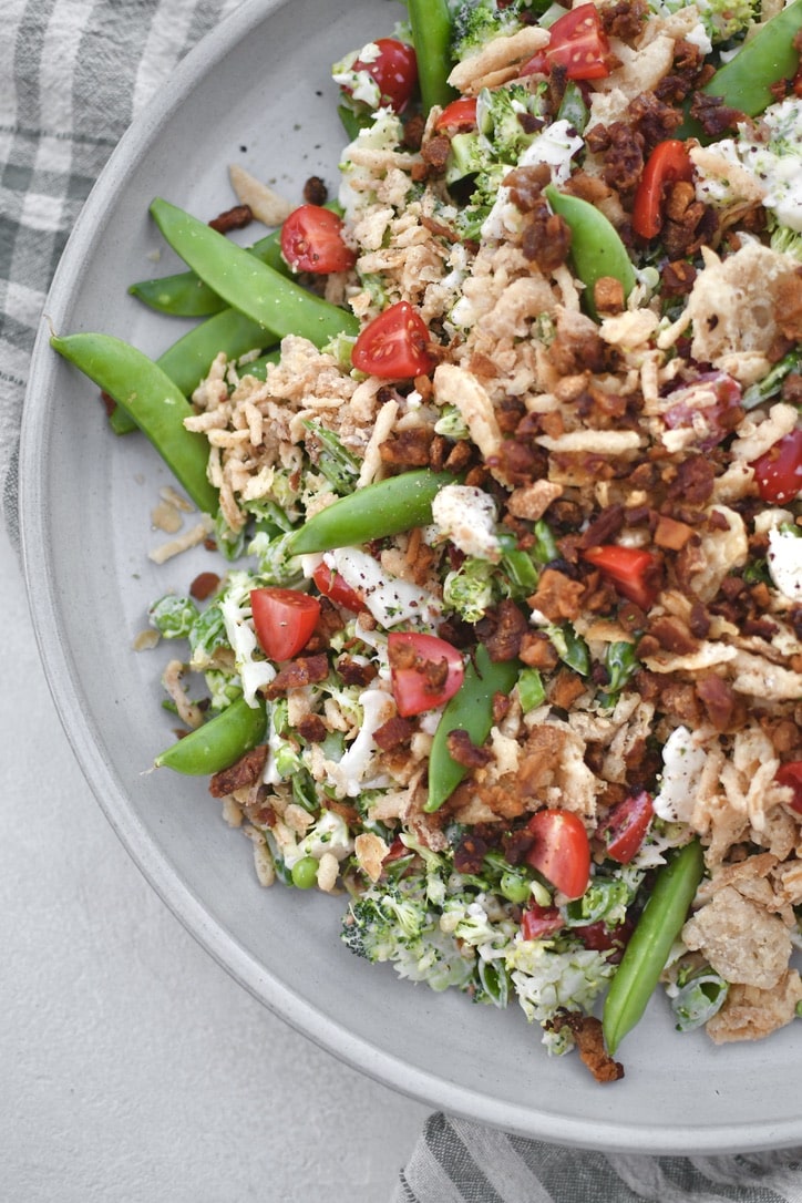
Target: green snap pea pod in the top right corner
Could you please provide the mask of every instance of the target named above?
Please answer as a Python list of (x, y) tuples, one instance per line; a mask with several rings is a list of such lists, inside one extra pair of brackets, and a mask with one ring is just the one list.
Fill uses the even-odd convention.
[[(791, 79), (800, 66), (794, 37), (802, 29), (802, 0), (794, 0), (744, 42), (738, 53), (707, 81), (702, 91), (720, 96), (747, 117), (758, 117), (777, 99), (772, 85)], [(707, 140), (709, 141), (709, 140)]]

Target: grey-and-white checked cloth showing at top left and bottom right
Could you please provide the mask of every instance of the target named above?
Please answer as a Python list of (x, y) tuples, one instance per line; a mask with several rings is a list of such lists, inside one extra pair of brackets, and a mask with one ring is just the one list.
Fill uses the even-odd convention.
[[(28, 365), (55, 265), (109, 153), (237, 0), (5, 0), (0, 36), (0, 484), (18, 540)], [(802, 1203), (800, 1150), (647, 1157), (563, 1149), (435, 1113), (393, 1203)]]

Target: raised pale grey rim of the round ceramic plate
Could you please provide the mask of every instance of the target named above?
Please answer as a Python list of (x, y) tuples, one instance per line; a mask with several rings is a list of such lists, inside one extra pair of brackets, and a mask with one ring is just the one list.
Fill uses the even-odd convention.
[[(785, 1121), (744, 1121), (671, 1127), (664, 1131), (657, 1121), (642, 1127), (619, 1125), (605, 1119), (566, 1120), (536, 1107), (523, 1108), (511, 1102), (488, 1098), (438, 1074), (406, 1065), (352, 1030), (343, 1026), (325, 1011), (299, 998), (259, 964), (221, 923), (214, 920), (201, 900), (180, 881), (167, 858), (138, 822), (102, 754), (102, 741), (82, 712), (81, 689), (71, 669), (69, 648), (61, 635), (58, 591), (49, 557), (36, 549), (48, 546), (48, 520), (38, 506), (37, 449), (47, 411), (48, 379), (54, 365), (49, 352), (48, 320), (69, 314), (79, 292), (83, 263), (91, 251), (93, 236), (102, 226), (119, 198), (136, 162), (148, 149), (159, 130), (186, 100), (202, 72), (219, 64), (242, 38), (249, 36), (271, 14), (290, 0), (243, 0), (180, 60), (166, 84), (158, 90), (133, 119), (109, 155), (97, 177), (66, 243), (40, 316), (25, 391), (19, 450), (19, 518), (22, 563), (28, 604), (40, 658), (59, 719), (87, 784), (145, 881), (196, 942), (240, 986), (292, 1029), (311, 1039), (325, 1051), (381, 1085), (421, 1103), (462, 1119), (488, 1124), (530, 1139), (558, 1145), (600, 1151), (650, 1152), (655, 1155), (721, 1154), (782, 1149), (802, 1143), (802, 1116)], [(46, 398), (41, 401), (40, 398)], [(57, 665), (59, 671), (48, 671)], [(76, 718), (79, 716), (79, 718)], [(67, 717), (70, 721), (67, 722)]]

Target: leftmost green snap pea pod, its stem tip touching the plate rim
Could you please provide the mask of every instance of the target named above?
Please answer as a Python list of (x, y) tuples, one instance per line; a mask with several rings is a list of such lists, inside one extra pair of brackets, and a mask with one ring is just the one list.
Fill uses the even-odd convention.
[(51, 346), (133, 417), (197, 508), (215, 514), (218, 491), (206, 475), (209, 445), (202, 434), (185, 429), (192, 407), (162, 368), (111, 334), (54, 334)]

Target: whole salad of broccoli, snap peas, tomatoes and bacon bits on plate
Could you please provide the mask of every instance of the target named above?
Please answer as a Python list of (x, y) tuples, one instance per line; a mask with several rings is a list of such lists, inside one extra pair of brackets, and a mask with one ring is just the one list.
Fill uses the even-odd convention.
[(717, 1043), (802, 1013), (801, 42), (410, 0), (333, 67), (338, 180), (154, 201), (189, 271), (131, 291), (189, 334), (52, 339), (200, 511), (159, 557), (225, 557), (149, 611), (156, 765), (344, 954), (600, 1081), (658, 988)]

